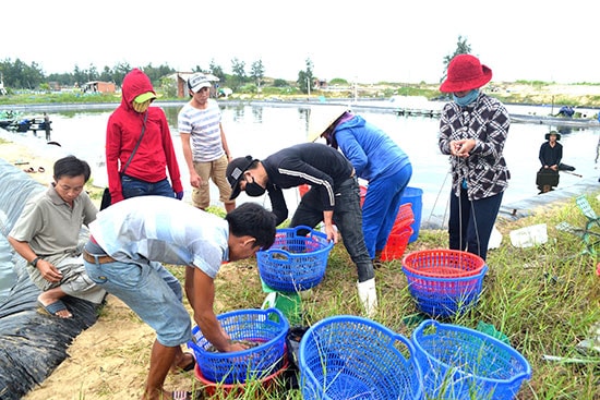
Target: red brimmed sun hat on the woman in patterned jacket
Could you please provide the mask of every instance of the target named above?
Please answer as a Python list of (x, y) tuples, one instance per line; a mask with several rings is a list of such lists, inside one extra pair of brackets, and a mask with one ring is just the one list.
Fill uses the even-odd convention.
[(492, 80), (492, 70), (483, 65), (477, 57), (458, 54), (448, 64), (448, 75), (440, 86), (440, 92), (455, 93), (480, 88)]

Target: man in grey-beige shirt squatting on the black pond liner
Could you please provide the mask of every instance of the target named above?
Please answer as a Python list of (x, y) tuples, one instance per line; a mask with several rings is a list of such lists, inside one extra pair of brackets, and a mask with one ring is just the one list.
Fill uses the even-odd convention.
[(38, 303), (61, 318), (72, 317), (61, 300), (65, 295), (100, 304), (106, 294), (87, 277), (81, 258), (82, 225), (88, 226), (97, 214), (84, 191), (89, 174), (89, 165), (74, 156), (57, 160), (51, 186), (27, 201), (8, 237), (41, 290)]

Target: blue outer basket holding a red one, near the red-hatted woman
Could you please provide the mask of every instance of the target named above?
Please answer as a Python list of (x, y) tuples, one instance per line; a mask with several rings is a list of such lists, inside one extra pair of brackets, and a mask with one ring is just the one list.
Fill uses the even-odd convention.
[(488, 266), (484, 265), (477, 275), (460, 278), (423, 276), (410, 271), (404, 265), (403, 271), (408, 291), (421, 312), (432, 317), (449, 317), (463, 314), (477, 304)]

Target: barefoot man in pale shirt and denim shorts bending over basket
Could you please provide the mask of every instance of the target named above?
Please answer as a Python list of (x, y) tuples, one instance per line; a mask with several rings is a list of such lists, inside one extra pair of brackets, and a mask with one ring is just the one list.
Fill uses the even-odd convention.
[(161, 263), (185, 266), (184, 290), (202, 335), (221, 352), (245, 350), (232, 342), (213, 306), (214, 279), (224, 262), (236, 262), (275, 242), (275, 216), (245, 203), (224, 218), (165, 196), (142, 196), (98, 213), (83, 258), (89, 278), (123, 301), (156, 331), (145, 400), (188, 399), (164, 389), (169, 371), (190, 371), (190, 315), (179, 280)]

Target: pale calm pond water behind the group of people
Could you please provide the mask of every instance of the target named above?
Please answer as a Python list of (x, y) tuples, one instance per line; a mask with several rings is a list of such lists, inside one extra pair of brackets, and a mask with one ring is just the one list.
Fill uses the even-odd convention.
[[(181, 142), (177, 132), (177, 113), (182, 104), (163, 105), (177, 156), (179, 158), (185, 198), (191, 195), (189, 174), (181, 151)], [(221, 105), (223, 125), (235, 157), (252, 155), (264, 158), (280, 148), (302, 143), (307, 137), (310, 105)], [(359, 109), (357, 107), (357, 109)], [(359, 109), (360, 110), (360, 109)], [(46, 144), (44, 132), (34, 136), (32, 132), (9, 133), (0, 130), (0, 136), (31, 147), (41, 148), (50, 156), (74, 154), (86, 159), (93, 168), (93, 180), (97, 186), (106, 185), (104, 166), (106, 123), (112, 108), (105, 110), (49, 111), (52, 121), (51, 140), (59, 146)], [(512, 111), (511, 112), (519, 112)], [(447, 218), (449, 198), (448, 157), (437, 148), (439, 119), (429, 117), (400, 117), (389, 110), (357, 111), (371, 123), (386, 131), (408, 154), (412, 162), (413, 174), (410, 186), (422, 189), (422, 226), (440, 227)], [(528, 110), (528, 112), (536, 112)], [(520, 112), (519, 112), (520, 113)], [(525, 112), (523, 112), (525, 113)], [(540, 111), (539, 114), (547, 114)], [(509, 186), (503, 204), (509, 204), (538, 194), (536, 172), (539, 169), (538, 151), (544, 135), (551, 129), (540, 124), (514, 123), (511, 126), (504, 155), (512, 172)], [(584, 178), (600, 175), (598, 167), (598, 144), (600, 129), (560, 129), (561, 143), (564, 146), (563, 161), (576, 167), (576, 173)], [(50, 154), (52, 153), (52, 154)], [(34, 166), (37, 168), (37, 166)], [(44, 166), (49, 169), (51, 166)], [(577, 183), (581, 178), (561, 173), (559, 187)], [(218, 202), (216, 186), (212, 185), (212, 204)], [(299, 203), (296, 190), (286, 191), (288, 208), (293, 213)], [(267, 196), (248, 197), (241, 194), (239, 203), (259, 202), (269, 207)], [(0, 283), (3, 279), (0, 278)], [(4, 281), (4, 283), (7, 283)], [(0, 284), (1, 287), (1, 284)], [(1, 288), (0, 288), (1, 289)], [(1, 299), (1, 293), (0, 293)]]

